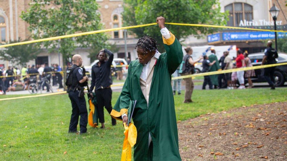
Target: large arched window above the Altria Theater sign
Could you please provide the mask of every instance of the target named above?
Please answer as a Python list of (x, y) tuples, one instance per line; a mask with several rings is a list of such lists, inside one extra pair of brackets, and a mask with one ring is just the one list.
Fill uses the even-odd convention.
[(229, 11), (229, 21), (227, 26), (238, 26), (240, 21), (252, 21), (253, 7), (246, 3), (232, 3), (224, 7)]

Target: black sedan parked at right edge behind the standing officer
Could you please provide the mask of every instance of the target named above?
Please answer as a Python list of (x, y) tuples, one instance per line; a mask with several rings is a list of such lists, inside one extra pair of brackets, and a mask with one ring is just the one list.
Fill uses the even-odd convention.
[[(258, 52), (258, 53), (253, 53), (253, 54), (248, 55), (253, 66), (261, 65), (263, 56), (264, 56), (263, 52)], [(278, 60), (277, 63), (287, 62), (287, 54), (278, 53), (277, 60)], [(256, 76), (251, 77), (252, 82), (253, 83), (266, 82), (263, 76), (263, 72), (264, 72), (264, 69), (255, 70)], [(276, 86), (283, 86), (284, 83), (287, 81), (287, 65), (276, 66), (274, 77), (275, 77)], [(247, 83), (247, 79), (245, 79), (245, 82)]]

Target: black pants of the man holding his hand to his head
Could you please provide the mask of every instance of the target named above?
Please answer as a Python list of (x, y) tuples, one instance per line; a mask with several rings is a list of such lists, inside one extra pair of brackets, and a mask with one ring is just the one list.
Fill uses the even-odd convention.
[[(112, 111), (112, 89), (104, 88), (95, 90), (96, 99), (97, 99), (97, 110), (99, 114), (100, 123), (105, 122), (104, 118), (104, 106), (109, 113)], [(111, 117), (112, 118), (112, 117)], [(116, 119), (112, 118), (112, 125), (116, 125)]]

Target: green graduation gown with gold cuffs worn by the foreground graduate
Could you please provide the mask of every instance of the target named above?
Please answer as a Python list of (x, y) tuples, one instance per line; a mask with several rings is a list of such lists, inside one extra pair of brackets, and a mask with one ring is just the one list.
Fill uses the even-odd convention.
[[(129, 65), (128, 76), (111, 112), (112, 117), (122, 120), (121, 115), (126, 113), (130, 99), (137, 100), (132, 117), (137, 129), (134, 160), (181, 160), (171, 74), (182, 62), (183, 52), (173, 34), (169, 39), (163, 38), (163, 42), (166, 52), (159, 56), (154, 66), (148, 104), (140, 87), (143, 65), (134, 60)], [(153, 143), (150, 149), (148, 133)]]

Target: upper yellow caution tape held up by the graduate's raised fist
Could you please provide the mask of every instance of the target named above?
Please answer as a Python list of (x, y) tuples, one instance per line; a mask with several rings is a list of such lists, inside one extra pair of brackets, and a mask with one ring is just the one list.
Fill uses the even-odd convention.
[[(43, 42), (43, 41), (58, 40), (58, 39), (62, 39), (62, 38), (71, 38), (71, 37), (77, 37), (77, 36), (83, 36), (83, 35), (91, 35), (91, 34), (96, 34), (96, 33), (104, 33), (104, 32), (109, 32), (109, 31), (124, 30), (124, 29), (130, 29), (130, 28), (139, 28), (139, 27), (144, 27), (144, 26), (152, 26), (152, 25), (156, 25), (156, 24), (157, 23), (149, 23), (149, 24), (144, 24), (144, 25), (135, 25), (135, 26), (127, 26), (127, 27), (110, 28), (110, 29), (104, 29), (104, 30), (95, 30), (95, 31), (83, 32), (83, 33), (74, 33), (74, 34), (56, 36), (56, 37), (51, 37), (51, 38), (43, 38), (43, 39), (37, 39), (37, 40), (23, 41), (23, 42), (19, 42), (19, 43), (11, 43), (11, 44), (0, 45), (0, 48), (5, 48), (5, 47), (15, 46), (15, 45), (24, 45), (24, 44), (30, 44), (30, 43), (39, 43), (39, 42)], [(188, 23), (166, 23), (166, 24), (180, 25), (180, 26), (232, 28), (232, 29), (240, 29), (240, 30), (271, 31), (271, 32), (287, 33), (287, 31), (284, 31), (284, 30), (266, 30), (266, 29), (243, 28), (243, 27), (233, 27), (233, 26), (188, 24)]]

